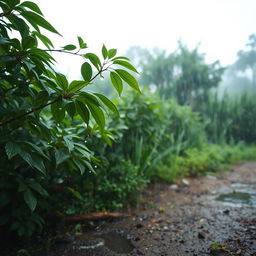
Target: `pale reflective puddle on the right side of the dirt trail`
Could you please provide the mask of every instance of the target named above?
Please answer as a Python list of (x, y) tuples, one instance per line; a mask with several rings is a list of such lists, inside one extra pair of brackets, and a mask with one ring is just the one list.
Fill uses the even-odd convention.
[(231, 205), (251, 205), (256, 206), (256, 186), (253, 184), (234, 183), (230, 193), (220, 194), (215, 200)]

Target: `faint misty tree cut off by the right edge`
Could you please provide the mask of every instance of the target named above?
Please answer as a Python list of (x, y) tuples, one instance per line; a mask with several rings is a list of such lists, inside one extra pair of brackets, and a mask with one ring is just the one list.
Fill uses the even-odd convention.
[(249, 36), (246, 48), (246, 50), (238, 52), (238, 60), (235, 63), (235, 68), (244, 72), (249, 70), (251, 72), (252, 86), (256, 89), (256, 34)]

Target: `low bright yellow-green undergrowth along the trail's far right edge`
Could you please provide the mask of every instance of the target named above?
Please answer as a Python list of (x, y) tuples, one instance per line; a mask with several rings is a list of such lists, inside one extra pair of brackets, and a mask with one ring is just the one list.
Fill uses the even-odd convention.
[(221, 170), (243, 161), (256, 160), (256, 146), (205, 144), (182, 155), (171, 155), (168, 164), (152, 170), (151, 181), (174, 182), (185, 176), (218, 174)]

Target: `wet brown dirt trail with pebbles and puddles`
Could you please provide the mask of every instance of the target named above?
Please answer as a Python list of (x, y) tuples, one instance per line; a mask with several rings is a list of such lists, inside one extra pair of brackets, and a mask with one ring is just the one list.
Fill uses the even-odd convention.
[(256, 256), (256, 162), (230, 172), (154, 184), (131, 217), (98, 226), (49, 256)]

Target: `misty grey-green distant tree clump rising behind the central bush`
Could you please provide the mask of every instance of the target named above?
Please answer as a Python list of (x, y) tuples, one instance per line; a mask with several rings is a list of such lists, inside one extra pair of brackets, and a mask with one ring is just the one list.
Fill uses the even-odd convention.
[[(193, 101), (205, 100), (208, 91), (221, 81), (224, 69), (218, 61), (206, 64), (204, 54), (198, 47), (189, 50), (182, 42), (178, 42), (177, 50), (167, 54), (164, 50), (148, 51), (133, 48), (134, 59), (142, 57), (140, 83), (154, 85), (161, 97), (176, 97), (180, 104), (192, 104)], [(142, 54), (143, 53), (143, 54)]]

